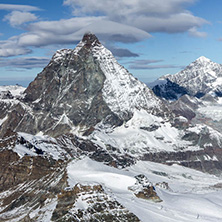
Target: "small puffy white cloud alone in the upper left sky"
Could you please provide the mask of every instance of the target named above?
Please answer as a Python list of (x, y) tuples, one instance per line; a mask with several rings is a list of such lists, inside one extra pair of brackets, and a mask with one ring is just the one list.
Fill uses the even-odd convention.
[(37, 20), (37, 16), (30, 12), (13, 11), (6, 15), (3, 21), (8, 21), (11, 26), (19, 26), (26, 22)]

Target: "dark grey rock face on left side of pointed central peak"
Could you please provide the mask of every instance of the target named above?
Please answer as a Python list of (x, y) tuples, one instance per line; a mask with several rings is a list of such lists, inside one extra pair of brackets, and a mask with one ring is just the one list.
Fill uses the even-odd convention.
[[(92, 55), (99, 40), (86, 34), (82, 42), (84, 46), (78, 52), (58, 51), (26, 89), (24, 100), (39, 115), (36, 131), (48, 129), (47, 134), (56, 136), (70, 131), (72, 126), (90, 128), (107, 116), (107, 122), (121, 124), (102, 98), (105, 76)], [(43, 114), (38, 114), (40, 110)], [(52, 127), (63, 114), (63, 126)]]

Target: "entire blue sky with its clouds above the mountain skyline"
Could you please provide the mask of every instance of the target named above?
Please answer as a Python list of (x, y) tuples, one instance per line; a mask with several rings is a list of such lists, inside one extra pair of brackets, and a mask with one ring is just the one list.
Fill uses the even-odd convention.
[(1, 0), (0, 85), (27, 86), (86, 31), (144, 82), (202, 55), (222, 63), (221, 11), (219, 0)]

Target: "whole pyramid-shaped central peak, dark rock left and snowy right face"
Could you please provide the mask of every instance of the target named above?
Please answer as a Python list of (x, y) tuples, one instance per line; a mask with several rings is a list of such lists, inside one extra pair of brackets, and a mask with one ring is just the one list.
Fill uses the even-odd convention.
[(62, 49), (53, 55), (29, 84), (2, 131), (10, 122), (13, 130), (32, 134), (84, 133), (98, 123), (121, 125), (140, 109), (162, 115), (165, 108), (94, 34), (86, 33), (74, 50)]

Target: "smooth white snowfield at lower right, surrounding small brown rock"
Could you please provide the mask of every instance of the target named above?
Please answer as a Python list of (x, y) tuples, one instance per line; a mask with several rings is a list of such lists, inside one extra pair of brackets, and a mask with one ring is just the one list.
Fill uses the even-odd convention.
[[(89, 158), (74, 160), (67, 168), (69, 186), (76, 183), (99, 183), (106, 192), (147, 222), (219, 222), (222, 221), (222, 190), (213, 185), (221, 178), (178, 165), (166, 166), (139, 161), (136, 165), (118, 170)], [(167, 182), (170, 189), (156, 186), (161, 203), (137, 198), (129, 186), (134, 176), (144, 174), (154, 185)]]

